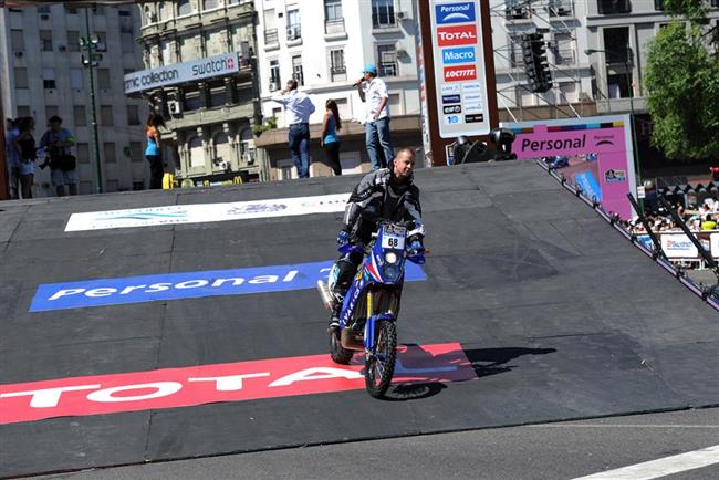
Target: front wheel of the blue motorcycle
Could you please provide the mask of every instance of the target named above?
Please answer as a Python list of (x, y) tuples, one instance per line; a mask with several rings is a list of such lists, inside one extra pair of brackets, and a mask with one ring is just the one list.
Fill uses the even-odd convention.
[(365, 359), (365, 386), (375, 398), (382, 398), (389, 388), (397, 358), (397, 326), (389, 320), (378, 320), (374, 353)]

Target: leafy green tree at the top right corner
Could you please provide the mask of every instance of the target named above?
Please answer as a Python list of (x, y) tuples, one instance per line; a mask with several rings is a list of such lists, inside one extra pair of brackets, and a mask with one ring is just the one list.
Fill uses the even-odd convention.
[[(652, 144), (684, 161), (719, 157), (717, 29), (701, 0), (665, 0), (674, 17), (649, 43), (645, 85)], [(687, 24), (688, 21), (688, 24)]]

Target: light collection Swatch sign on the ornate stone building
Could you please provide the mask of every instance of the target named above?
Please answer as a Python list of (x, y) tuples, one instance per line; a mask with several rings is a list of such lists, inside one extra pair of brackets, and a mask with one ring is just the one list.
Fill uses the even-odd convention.
[(175, 63), (159, 69), (142, 70), (125, 75), (125, 94), (178, 83), (197, 82), (198, 80), (228, 75), (239, 71), (240, 62), (237, 52), (191, 62)]

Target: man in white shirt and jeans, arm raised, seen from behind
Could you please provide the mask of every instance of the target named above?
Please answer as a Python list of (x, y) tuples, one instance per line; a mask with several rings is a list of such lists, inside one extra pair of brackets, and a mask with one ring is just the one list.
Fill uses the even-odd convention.
[(286, 125), (290, 128), (288, 139), (292, 161), (300, 178), (310, 177), (310, 115), (314, 104), (310, 97), (298, 91), (298, 81), (291, 79), (286, 86), (272, 95), (272, 100), (284, 106)]

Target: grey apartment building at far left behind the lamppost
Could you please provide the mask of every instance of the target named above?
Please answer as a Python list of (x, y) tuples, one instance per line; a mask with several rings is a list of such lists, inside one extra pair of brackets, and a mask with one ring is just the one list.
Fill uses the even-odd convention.
[[(142, 190), (149, 168), (143, 156), (145, 102), (127, 100), (123, 75), (142, 65), (135, 42), (136, 8), (52, 4), (0, 9), (0, 94), (4, 116), (32, 116), (39, 143), (48, 118), (59, 115), (76, 139), (79, 192)], [(94, 148), (88, 69), (81, 41), (94, 39), (97, 148)], [(85, 56), (83, 56), (85, 55)], [(100, 59), (100, 56), (102, 59)], [(98, 154), (98, 158), (97, 155)], [(103, 185), (97, 185), (97, 167)], [(38, 169), (35, 196), (53, 196), (50, 169)]]

